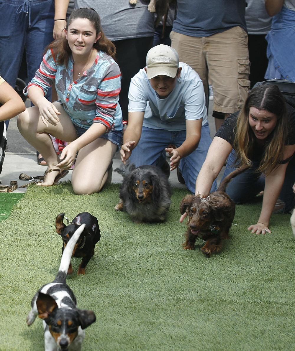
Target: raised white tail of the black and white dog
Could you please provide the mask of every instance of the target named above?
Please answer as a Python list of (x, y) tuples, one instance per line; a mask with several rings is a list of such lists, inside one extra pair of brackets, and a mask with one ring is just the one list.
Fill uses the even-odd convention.
[(68, 267), (70, 266), (73, 250), (84, 228), (85, 228), (85, 224), (81, 224), (79, 228), (76, 230), (76, 232), (74, 232), (71, 239), (68, 241), (64, 249), (63, 255), (61, 256), (60, 266), (59, 266), (57, 276), (55, 278), (55, 282), (59, 282), (59, 283), (66, 282), (67, 271), (68, 271)]

